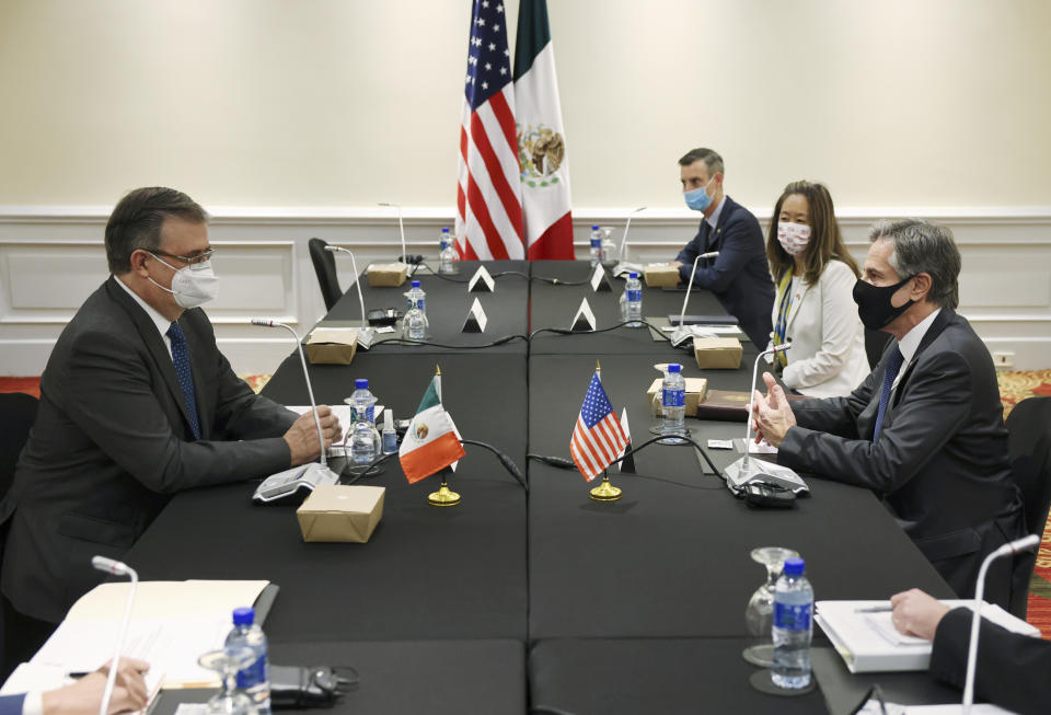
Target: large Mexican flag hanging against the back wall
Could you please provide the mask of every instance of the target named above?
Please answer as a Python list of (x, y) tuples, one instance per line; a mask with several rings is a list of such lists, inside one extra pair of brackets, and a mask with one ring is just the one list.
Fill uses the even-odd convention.
[(546, 0), (519, 5), (515, 103), (526, 255), (573, 260), (569, 161)]

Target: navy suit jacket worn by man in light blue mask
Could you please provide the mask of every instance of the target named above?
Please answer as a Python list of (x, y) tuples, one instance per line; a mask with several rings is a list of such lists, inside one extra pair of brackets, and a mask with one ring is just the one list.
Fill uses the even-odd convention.
[(774, 281), (766, 262), (766, 243), (759, 221), (751, 211), (729, 196), (713, 230), (704, 219), (693, 241), (679, 252), (679, 279), (690, 281), (693, 260), (702, 253), (718, 251), (715, 258), (702, 258), (693, 284), (707, 288), (723, 308), (737, 319), (741, 330), (761, 350), (766, 349), (771, 313), (774, 309)]

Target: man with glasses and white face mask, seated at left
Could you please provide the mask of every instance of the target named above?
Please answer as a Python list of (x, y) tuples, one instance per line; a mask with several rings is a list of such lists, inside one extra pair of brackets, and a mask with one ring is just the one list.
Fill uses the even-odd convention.
[[(216, 347), (199, 308), (218, 290), (207, 219), (171, 188), (136, 189), (109, 217), (113, 275), (55, 345), (0, 501), (9, 662), (27, 660), (102, 579), (91, 557), (120, 558), (173, 493), (319, 457), (313, 416), (256, 395)], [(319, 414), (331, 442), (338, 420)]]

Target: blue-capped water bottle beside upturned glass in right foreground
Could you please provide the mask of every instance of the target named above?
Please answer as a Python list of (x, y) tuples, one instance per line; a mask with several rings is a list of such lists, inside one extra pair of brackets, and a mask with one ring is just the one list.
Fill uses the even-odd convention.
[(802, 575), (801, 558), (785, 561), (774, 586), (774, 668), (778, 688), (799, 689), (810, 684), (810, 637), (813, 634), (813, 588)]

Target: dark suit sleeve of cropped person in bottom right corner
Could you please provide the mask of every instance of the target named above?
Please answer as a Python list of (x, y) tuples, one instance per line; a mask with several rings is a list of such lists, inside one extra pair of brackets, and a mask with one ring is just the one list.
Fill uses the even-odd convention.
[[(960, 689), (967, 682), (971, 615), (962, 608), (946, 613), (934, 634), (931, 653), (931, 673)], [(1017, 713), (1047, 713), (1051, 708), (1051, 643), (1012, 633), (982, 619), (974, 697)]]

